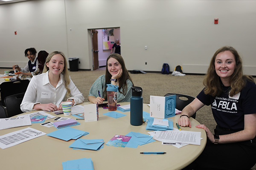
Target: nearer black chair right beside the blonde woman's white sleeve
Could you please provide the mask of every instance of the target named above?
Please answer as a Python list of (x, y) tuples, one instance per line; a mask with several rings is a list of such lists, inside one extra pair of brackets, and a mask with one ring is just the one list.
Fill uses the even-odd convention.
[(16, 116), (17, 114), (23, 113), (20, 110), (20, 104), (23, 100), (25, 93), (14, 94), (12, 96), (8, 96), (4, 99), (7, 110), (7, 117)]

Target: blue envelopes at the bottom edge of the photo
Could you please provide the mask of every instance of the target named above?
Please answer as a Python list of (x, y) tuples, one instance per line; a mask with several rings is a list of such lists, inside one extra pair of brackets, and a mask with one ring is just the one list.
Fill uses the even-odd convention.
[(94, 170), (93, 161), (90, 158), (75, 159), (62, 162), (63, 170)]

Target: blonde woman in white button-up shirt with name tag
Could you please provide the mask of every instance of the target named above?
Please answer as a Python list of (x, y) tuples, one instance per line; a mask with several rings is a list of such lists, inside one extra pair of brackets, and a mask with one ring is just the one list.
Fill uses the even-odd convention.
[(84, 102), (84, 97), (70, 79), (67, 71), (67, 60), (62, 52), (54, 51), (48, 55), (43, 74), (33, 76), (24, 95), (20, 109), (23, 112), (32, 110), (61, 110), (64, 97), (72, 105)]

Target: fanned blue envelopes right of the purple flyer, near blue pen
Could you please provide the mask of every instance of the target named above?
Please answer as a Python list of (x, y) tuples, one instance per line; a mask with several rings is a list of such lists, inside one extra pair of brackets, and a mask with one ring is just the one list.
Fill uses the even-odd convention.
[(145, 135), (139, 132), (130, 132), (125, 136), (131, 136), (131, 139), (125, 147), (137, 148), (138, 145), (148, 144), (155, 141), (152, 136)]

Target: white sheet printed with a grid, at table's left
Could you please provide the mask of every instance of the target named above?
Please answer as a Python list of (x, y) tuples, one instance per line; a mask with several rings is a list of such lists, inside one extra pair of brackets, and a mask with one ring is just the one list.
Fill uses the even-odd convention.
[(2, 149), (6, 149), (8, 147), (15, 146), (16, 144), (26, 142), (30, 139), (34, 139), (45, 134), (46, 133), (39, 130), (27, 127), (23, 130), (17, 130), (15, 132), (7, 133), (0, 136), (0, 147)]

